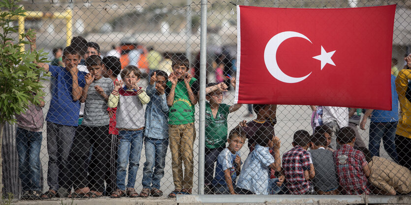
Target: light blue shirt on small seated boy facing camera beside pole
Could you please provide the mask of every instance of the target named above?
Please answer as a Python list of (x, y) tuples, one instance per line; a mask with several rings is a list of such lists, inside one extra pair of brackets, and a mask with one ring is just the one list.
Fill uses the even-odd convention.
[(236, 168), (237, 164), (234, 162), (236, 156), (240, 156), (240, 151), (232, 154), (228, 148), (221, 151), (217, 157), (216, 177), (213, 179), (214, 186), (226, 186), (224, 178), (224, 170), (230, 169), (230, 176), (233, 185), (235, 184), (235, 178), (237, 178)]

